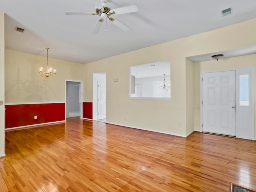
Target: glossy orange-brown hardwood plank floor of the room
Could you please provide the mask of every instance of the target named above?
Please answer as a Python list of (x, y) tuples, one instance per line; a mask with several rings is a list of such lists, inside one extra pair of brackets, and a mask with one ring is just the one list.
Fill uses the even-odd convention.
[(256, 190), (256, 142), (188, 138), (68, 118), (6, 132), (0, 192), (229, 192)]

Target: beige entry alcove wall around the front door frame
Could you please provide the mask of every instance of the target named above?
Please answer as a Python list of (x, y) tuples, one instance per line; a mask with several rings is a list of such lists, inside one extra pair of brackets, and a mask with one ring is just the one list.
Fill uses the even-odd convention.
[[(254, 101), (256, 100), (256, 54), (194, 63), (194, 129), (200, 130), (200, 73), (243, 67), (254, 67)], [(254, 107), (255, 108), (255, 107)], [(256, 120), (256, 118), (254, 118)], [(255, 130), (256, 138), (256, 130)]]

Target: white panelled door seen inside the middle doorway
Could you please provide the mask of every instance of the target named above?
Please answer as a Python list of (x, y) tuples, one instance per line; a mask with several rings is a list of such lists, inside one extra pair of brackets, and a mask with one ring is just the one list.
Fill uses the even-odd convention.
[(98, 81), (98, 120), (106, 119), (106, 82)]

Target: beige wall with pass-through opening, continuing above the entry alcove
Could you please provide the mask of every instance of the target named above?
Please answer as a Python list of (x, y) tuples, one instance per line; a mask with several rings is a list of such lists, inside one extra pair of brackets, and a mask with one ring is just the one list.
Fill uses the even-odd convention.
[[(84, 82), (88, 84), (84, 87), (84, 100), (92, 101), (92, 73), (106, 71), (107, 122), (186, 136), (193, 124), (196, 130), (200, 125), (198, 112), (194, 118), (194, 110), (200, 108), (191, 89), (191, 82), (200, 76), (190, 73), (197, 66), (186, 62), (186, 57), (255, 45), (255, 26), (256, 19), (252, 19), (85, 64)], [(130, 100), (129, 67), (162, 60), (171, 62), (172, 99)], [(113, 82), (113, 78), (118, 78), (118, 82)]]

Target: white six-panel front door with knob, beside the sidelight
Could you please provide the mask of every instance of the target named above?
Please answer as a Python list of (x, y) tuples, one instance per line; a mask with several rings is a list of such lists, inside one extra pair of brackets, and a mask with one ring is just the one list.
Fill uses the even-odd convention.
[(202, 74), (202, 131), (236, 136), (236, 71)]

